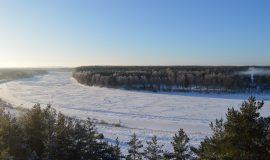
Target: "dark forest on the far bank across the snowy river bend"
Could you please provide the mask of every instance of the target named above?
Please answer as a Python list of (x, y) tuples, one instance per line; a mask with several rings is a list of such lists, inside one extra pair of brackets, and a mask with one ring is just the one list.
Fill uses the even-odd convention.
[(81, 84), (150, 91), (253, 92), (269, 91), (270, 75), (239, 74), (234, 66), (86, 66), (73, 77)]

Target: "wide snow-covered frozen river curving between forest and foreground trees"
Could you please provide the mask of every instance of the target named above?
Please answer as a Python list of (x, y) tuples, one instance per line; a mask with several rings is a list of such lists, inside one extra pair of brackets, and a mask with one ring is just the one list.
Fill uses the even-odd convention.
[[(125, 143), (132, 133), (146, 140), (157, 135), (170, 149), (174, 133), (183, 128), (197, 146), (211, 134), (209, 123), (225, 116), (228, 107), (238, 108), (249, 94), (151, 93), (89, 87), (78, 84), (71, 72), (49, 72), (33, 78), (0, 84), (0, 98), (15, 107), (30, 108), (35, 103), (52, 104), (57, 110), (77, 118), (95, 118), (121, 127), (98, 125), (109, 141), (119, 137)], [(270, 115), (270, 94), (261, 113)]]

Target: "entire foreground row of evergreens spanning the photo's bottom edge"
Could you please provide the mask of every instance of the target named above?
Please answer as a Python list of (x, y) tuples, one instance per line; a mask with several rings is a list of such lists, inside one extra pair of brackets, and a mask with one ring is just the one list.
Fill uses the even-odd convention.
[(242, 103), (240, 110), (229, 108), (226, 120), (210, 124), (213, 134), (198, 148), (180, 129), (166, 151), (156, 136), (144, 143), (136, 134), (127, 142), (123, 155), (118, 138), (106, 142), (90, 119), (77, 120), (57, 113), (48, 105), (35, 105), (20, 117), (0, 108), (0, 159), (3, 160), (269, 160), (270, 117), (260, 116), (263, 102), (255, 97)]

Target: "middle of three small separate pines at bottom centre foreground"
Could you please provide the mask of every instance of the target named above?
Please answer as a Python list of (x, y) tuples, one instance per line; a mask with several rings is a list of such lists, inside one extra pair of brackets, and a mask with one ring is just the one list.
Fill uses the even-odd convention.
[(152, 137), (151, 141), (146, 142), (147, 147), (144, 150), (144, 157), (149, 160), (163, 159), (163, 145), (158, 144), (157, 136)]

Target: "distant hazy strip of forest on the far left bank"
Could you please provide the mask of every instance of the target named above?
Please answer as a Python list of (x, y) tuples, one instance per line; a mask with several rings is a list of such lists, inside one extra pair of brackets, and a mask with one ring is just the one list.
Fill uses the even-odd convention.
[(0, 69), (0, 80), (29, 78), (34, 75), (41, 75), (46, 73), (46, 70), (41, 69)]

